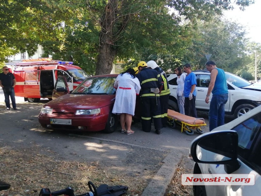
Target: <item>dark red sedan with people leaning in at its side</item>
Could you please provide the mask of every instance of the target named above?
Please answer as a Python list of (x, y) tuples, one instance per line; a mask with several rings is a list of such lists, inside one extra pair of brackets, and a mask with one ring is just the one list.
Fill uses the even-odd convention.
[[(118, 123), (118, 116), (112, 114), (117, 75), (88, 77), (71, 93), (66, 78), (59, 77), (53, 91), (54, 100), (46, 103), (38, 115), (40, 124), (48, 129), (114, 132)], [(139, 99), (136, 101), (139, 109), (137, 104), (141, 104)], [(139, 118), (136, 113), (139, 114), (135, 110)]]

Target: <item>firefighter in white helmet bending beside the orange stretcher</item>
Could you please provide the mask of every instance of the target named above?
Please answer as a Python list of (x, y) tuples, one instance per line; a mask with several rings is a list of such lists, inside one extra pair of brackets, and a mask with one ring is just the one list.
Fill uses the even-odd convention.
[(168, 121), (168, 98), (170, 95), (168, 80), (165, 72), (161, 69), (154, 60), (147, 62), (148, 68), (158, 71), (161, 75), (162, 82), (164, 82), (162, 90), (160, 92), (160, 102), (161, 102), (161, 124), (163, 127), (167, 126)]

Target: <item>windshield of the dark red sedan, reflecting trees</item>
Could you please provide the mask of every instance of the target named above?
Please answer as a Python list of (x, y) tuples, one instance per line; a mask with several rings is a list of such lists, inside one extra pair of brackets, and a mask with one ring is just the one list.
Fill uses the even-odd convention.
[(116, 89), (113, 87), (116, 77), (89, 77), (86, 78), (72, 94), (89, 95), (113, 95)]

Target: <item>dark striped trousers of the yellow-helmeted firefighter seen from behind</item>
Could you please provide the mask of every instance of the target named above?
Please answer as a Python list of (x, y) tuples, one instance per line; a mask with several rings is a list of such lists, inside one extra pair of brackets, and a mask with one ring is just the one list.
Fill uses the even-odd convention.
[(142, 130), (144, 132), (151, 131), (151, 122), (153, 118), (154, 127), (155, 129), (161, 129), (161, 104), (160, 98), (157, 97), (156, 105), (156, 98), (141, 98), (142, 101), (142, 112), (141, 112), (141, 125)]

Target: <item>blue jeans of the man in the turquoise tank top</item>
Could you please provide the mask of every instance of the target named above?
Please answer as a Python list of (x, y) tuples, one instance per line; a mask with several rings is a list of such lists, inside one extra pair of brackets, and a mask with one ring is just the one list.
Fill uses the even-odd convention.
[(208, 112), (209, 131), (224, 125), (225, 104), (228, 101), (228, 94), (213, 95), (210, 101)]

